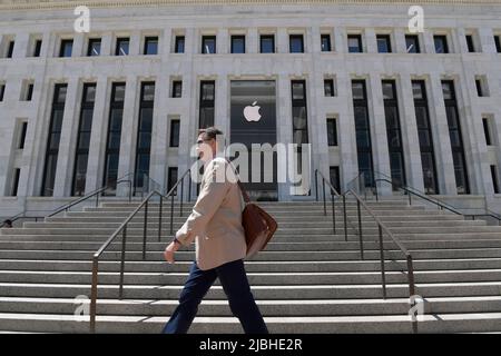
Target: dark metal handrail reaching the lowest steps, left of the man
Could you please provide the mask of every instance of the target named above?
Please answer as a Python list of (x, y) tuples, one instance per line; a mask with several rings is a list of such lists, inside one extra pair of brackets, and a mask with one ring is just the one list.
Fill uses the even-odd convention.
[(154, 196), (160, 197), (159, 204), (159, 212), (158, 212), (158, 241), (160, 241), (161, 236), (161, 212), (163, 212), (163, 199), (168, 199), (171, 197), (171, 207), (170, 207), (170, 234), (173, 234), (173, 225), (174, 225), (174, 191), (180, 184), (180, 215), (183, 216), (183, 189), (184, 189), (184, 179), (188, 175), (189, 185), (188, 185), (188, 201), (191, 198), (191, 170), (188, 169), (183, 176), (177, 180), (177, 182), (173, 186), (173, 188), (167, 192), (167, 195), (163, 195), (161, 192), (154, 190), (148, 194), (148, 196), (139, 204), (139, 206), (126, 218), (126, 220), (115, 230), (115, 233), (102, 244), (102, 246), (92, 255), (92, 284), (90, 289), (90, 333), (96, 332), (96, 310), (97, 310), (97, 284), (98, 284), (98, 273), (99, 273), (99, 257), (102, 253), (110, 246), (110, 244), (117, 238), (117, 236), (121, 233), (121, 259), (120, 259), (120, 280), (119, 280), (119, 298), (121, 299), (124, 296), (124, 269), (125, 269), (125, 253), (126, 253), (126, 240), (127, 240), (127, 226), (132, 220), (132, 218), (145, 208), (145, 217), (144, 217), (144, 227), (143, 227), (143, 259), (146, 259), (146, 237), (147, 237), (147, 227), (148, 227), (148, 204), (149, 200)]

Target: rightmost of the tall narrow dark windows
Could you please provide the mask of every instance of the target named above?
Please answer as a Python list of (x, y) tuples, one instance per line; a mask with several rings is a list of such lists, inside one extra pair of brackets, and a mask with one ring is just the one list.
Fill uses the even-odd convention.
[(451, 140), (455, 186), (458, 188), (458, 194), (470, 194), (466, 159), (461, 135), (461, 122), (458, 111), (458, 103), (455, 100), (454, 82), (452, 80), (443, 80), (442, 90), (444, 92), (445, 113), (448, 118), (449, 137)]

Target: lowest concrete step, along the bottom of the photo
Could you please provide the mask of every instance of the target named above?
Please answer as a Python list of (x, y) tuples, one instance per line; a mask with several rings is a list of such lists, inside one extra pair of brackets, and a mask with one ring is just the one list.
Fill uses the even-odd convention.
[[(97, 333), (161, 332), (167, 317), (98, 316)], [(419, 319), (420, 333), (463, 333), (499, 329), (501, 313), (436, 314)], [(272, 334), (332, 334), (332, 333), (412, 333), (410, 316), (338, 316), (338, 317), (265, 317)], [(55, 314), (0, 314), (3, 329), (88, 333), (89, 324), (75, 316)], [(240, 334), (238, 319), (234, 317), (196, 317), (189, 329), (195, 334)]]

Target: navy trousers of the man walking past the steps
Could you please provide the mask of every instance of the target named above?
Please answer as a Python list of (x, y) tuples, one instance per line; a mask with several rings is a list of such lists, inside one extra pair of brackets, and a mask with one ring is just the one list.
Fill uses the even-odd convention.
[(164, 334), (186, 334), (195, 318), (198, 305), (216, 278), (228, 298), (229, 308), (246, 334), (268, 334), (263, 316), (257, 308), (245, 274), (244, 261), (237, 259), (219, 267), (202, 270), (194, 263), (188, 280), (179, 297), (179, 305), (164, 327)]

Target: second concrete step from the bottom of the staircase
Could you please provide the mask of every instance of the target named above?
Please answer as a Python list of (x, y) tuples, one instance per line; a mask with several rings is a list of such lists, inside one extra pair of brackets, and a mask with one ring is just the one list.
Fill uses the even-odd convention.
[[(77, 298), (0, 297), (0, 313), (72, 315), (76, 307), (84, 303), (85, 299)], [(410, 309), (409, 298), (256, 300), (256, 304), (264, 316), (405, 315)], [(176, 299), (98, 299), (97, 314), (169, 316), (177, 305)], [(425, 314), (498, 312), (501, 297), (425, 298), (423, 307)], [(203, 300), (197, 315), (233, 316), (227, 300)]]

